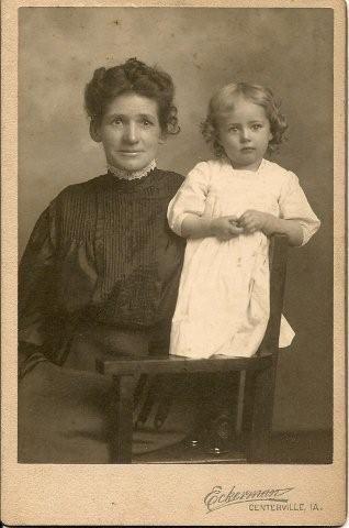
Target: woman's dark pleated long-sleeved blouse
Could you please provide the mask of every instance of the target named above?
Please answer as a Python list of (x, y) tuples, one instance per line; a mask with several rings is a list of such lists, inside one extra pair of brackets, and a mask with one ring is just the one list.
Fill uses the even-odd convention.
[(182, 183), (155, 168), (64, 189), (40, 217), (19, 276), (20, 369), (65, 361), (79, 324), (147, 329), (170, 321), (184, 241), (167, 223)]

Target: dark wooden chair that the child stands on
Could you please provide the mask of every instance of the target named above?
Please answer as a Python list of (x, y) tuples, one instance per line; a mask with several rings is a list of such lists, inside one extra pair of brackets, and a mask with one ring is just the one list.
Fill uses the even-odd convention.
[(192, 360), (178, 356), (97, 361), (97, 371), (113, 378), (112, 463), (132, 462), (135, 380), (140, 374), (189, 374), (239, 371), (245, 373), (241, 429), (246, 462), (270, 461), (273, 398), (279, 352), (279, 332), (286, 273), (288, 240), (272, 237), (270, 243), (270, 318), (264, 339), (252, 358)]

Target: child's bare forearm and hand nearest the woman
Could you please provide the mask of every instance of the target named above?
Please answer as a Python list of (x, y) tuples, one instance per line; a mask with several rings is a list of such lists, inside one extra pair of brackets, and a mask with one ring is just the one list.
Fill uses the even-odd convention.
[(229, 240), (244, 232), (238, 227), (236, 217), (205, 218), (187, 213), (181, 226), (181, 235), (184, 238), (200, 239), (216, 237), (219, 240)]

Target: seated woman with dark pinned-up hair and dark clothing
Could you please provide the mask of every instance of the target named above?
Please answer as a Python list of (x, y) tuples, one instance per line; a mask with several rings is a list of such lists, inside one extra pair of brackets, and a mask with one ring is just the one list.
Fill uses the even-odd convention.
[(166, 213), (182, 177), (155, 160), (179, 131), (173, 95), (135, 58), (86, 87), (108, 173), (52, 201), (20, 265), (20, 462), (108, 463), (110, 382), (95, 359), (168, 353), (184, 243)]

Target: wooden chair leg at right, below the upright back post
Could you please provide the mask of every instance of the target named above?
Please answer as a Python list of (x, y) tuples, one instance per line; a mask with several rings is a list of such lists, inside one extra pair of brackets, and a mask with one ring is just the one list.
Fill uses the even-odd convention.
[(247, 432), (247, 462), (270, 461), (270, 440), (274, 395), (274, 371), (267, 369), (246, 376), (246, 414), (244, 430)]

